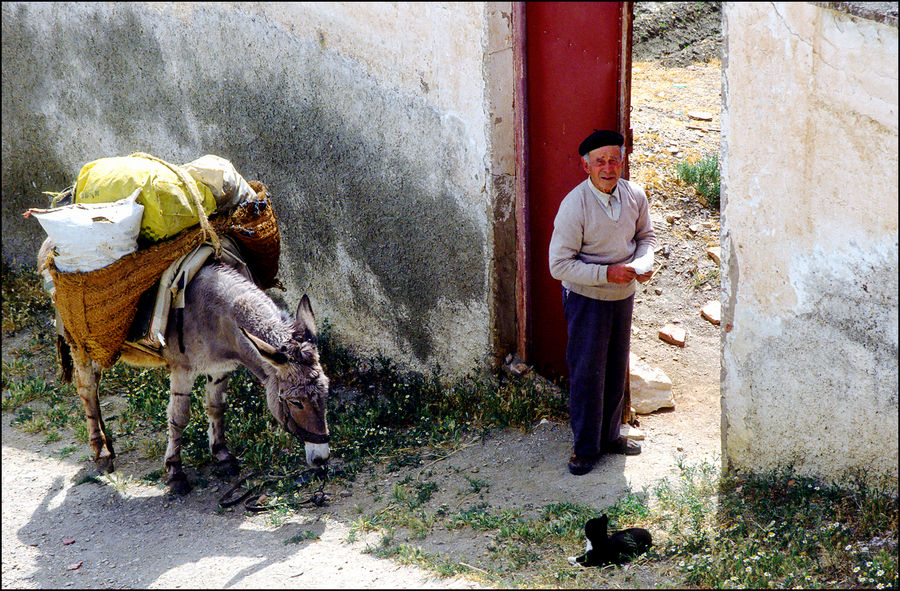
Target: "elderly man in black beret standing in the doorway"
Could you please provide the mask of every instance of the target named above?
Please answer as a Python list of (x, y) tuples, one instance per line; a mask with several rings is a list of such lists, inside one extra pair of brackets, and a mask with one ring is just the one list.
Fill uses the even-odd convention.
[(620, 436), (635, 280), (653, 269), (656, 235), (647, 195), (621, 179), (624, 138), (595, 130), (578, 147), (588, 178), (559, 205), (550, 274), (562, 281), (569, 342), (569, 472), (587, 474), (604, 453), (636, 455)]

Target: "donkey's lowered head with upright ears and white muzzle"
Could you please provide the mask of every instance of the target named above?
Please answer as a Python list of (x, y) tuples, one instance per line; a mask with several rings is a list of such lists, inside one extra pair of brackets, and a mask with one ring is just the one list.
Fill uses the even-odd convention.
[(297, 306), (291, 337), (271, 344), (241, 331), (265, 361), (266, 402), (278, 424), (306, 444), (306, 463), (328, 461), (328, 378), (319, 365), (316, 320), (306, 294)]

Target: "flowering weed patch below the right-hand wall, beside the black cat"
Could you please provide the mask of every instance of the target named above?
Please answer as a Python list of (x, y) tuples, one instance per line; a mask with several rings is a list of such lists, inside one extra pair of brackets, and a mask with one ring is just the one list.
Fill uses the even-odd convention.
[(662, 557), (685, 582), (707, 588), (897, 588), (897, 496), (789, 470), (718, 476), (680, 466), (654, 514), (667, 532)]

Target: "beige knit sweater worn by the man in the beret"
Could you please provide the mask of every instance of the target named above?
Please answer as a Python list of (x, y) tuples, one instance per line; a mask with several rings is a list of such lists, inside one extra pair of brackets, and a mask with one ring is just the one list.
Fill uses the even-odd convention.
[(563, 287), (597, 300), (622, 300), (635, 291), (636, 282), (609, 283), (606, 268), (632, 264), (639, 271), (653, 268), (656, 234), (650, 223), (647, 195), (624, 179), (616, 185), (621, 202), (613, 221), (588, 183), (580, 183), (563, 199), (550, 238), (550, 275)]

